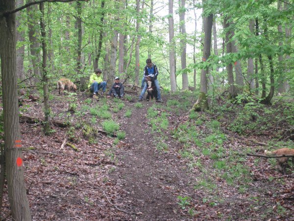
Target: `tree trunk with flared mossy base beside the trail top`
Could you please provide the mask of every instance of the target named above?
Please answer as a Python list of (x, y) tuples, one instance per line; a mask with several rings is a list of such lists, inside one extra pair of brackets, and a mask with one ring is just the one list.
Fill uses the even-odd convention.
[[(213, 14), (210, 14), (208, 17), (203, 17), (203, 28), (204, 28), (204, 44), (203, 44), (203, 57), (202, 60), (206, 61), (210, 56), (211, 50), (211, 30), (213, 23)], [(200, 76), (200, 94), (193, 106), (193, 110), (201, 111), (208, 109), (207, 101), (207, 76), (208, 68), (201, 70)]]

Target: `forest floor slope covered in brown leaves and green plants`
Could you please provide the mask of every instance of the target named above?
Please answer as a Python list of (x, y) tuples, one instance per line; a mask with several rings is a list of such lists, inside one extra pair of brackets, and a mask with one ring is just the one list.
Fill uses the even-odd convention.
[[(52, 125), (46, 136), (40, 121), (21, 121), (33, 220), (294, 220), (294, 166), (283, 175), (275, 160), (246, 156), (278, 148), (276, 130), (232, 133), (234, 111), (221, 123), (220, 113), (191, 113), (190, 92), (164, 93), (163, 103), (137, 99), (53, 91), (53, 120), (72, 126)], [(29, 99), (20, 108), (34, 119), (42, 110)], [(107, 132), (112, 120), (115, 133)], [(1, 217), (11, 220), (7, 186)]]

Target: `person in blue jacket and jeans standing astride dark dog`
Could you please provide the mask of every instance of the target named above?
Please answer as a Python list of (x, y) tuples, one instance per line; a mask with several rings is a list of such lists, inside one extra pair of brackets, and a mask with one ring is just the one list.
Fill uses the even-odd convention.
[[(150, 58), (147, 58), (146, 63), (147, 63), (147, 65), (144, 68), (144, 75), (143, 76), (144, 76), (145, 79), (146, 79), (147, 76), (149, 76), (152, 80), (154, 79), (154, 83), (155, 83), (155, 86), (156, 86), (156, 89), (157, 89), (156, 101), (162, 102), (161, 95), (160, 95), (160, 86), (159, 86), (159, 83), (158, 83), (158, 80), (157, 80), (157, 76), (158, 76), (157, 67), (156, 67), (155, 64), (152, 63)], [(142, 101), (146, 90), (147, 90), (147, 83), (144, 84), (142, 92), (141, 92), (141, 94), (139, 96), (139, 101)]]

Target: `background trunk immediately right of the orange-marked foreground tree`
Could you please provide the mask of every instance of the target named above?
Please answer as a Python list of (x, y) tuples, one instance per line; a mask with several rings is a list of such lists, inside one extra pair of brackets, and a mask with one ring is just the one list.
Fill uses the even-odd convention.
[[(24, 0), (17, 0), (16, 1), (16, 6), (22, 6), (24, 5)], [(16, 13), (16, 17), (20, 17), (21, 15), (21, 11), (18, 11)], [(20, 26), (20, 18), (16, 19), (16, 28), (18, 28)], [(24, 31), (16, 31), (16, 40), (18, 42), (23, 42), (25, 41), (25, 37), (24, 37)], [(20, 80), (24, 80), (25, 79), (25, 73), (24, 73), (24, 56), (25, 56), (25, 46), (21, 46), (17, 49), (16, 51), (16, 73), (17, 73), (17, 77)]]

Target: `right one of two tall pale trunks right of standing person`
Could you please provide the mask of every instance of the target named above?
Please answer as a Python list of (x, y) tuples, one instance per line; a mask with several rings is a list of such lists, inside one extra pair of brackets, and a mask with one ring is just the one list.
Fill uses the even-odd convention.
[[(185, 26), (185, 3), (186, 0), (181, 0), (180, 1), (181, 5), (179, 8), (179, 16), (180, 16), (180, 32), (182, 34), (181, 39), (180, 39), (180, 45), (181, 45), (181, 67), (182, 69), (185, 69), (187, 64), (186, 64), (186, 26)], [(188, 90), (189, 89), (189, 81), (188, 81), (188, 74), (183, 73), (182, 74), (182, 86), (183, 90)]]

